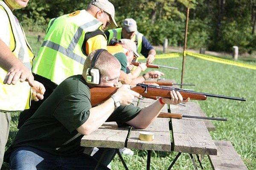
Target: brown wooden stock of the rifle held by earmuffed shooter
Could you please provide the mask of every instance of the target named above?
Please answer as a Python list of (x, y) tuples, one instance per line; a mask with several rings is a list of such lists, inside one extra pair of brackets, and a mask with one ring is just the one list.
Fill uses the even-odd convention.
[[(90, 100), (92, 107), (103, 103), (108, 98), (113, 95), (118, 88), (116, 87), (93, 87), (90, 89)], [(155, 88), (155, 87), (145, 87), (142, 85), (137, 85), (131, 90), (140, 93), (145, 98), (153, 98), (156, 99), (156, 97), (163, 97), (163, 98), (171, 98), (170, 89), (161, 89), (161, 88)], [(191, 92), (180, 92), (183, 99), (190, 98), (192, 100), (206, 100), (205, 95), (201, 94), (193, 94)]]

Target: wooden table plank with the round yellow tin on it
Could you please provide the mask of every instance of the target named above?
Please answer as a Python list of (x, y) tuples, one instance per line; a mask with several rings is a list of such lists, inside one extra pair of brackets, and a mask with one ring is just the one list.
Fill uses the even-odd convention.
[[(139, 132), (149, 131), (154, 133), (154, 141), (141, 141)], [(171, 151), (171, 138), (169, 133), (169, 119), (156, 118), (145, 130), (132, 129), (127, 142), (127, 148), (139, 150)]]

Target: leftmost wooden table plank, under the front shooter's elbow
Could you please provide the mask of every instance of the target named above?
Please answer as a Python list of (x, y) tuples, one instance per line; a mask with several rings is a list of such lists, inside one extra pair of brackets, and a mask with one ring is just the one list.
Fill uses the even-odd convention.
[(81, 146), (123, 148), (127, 135), (127, 127), (120, 128), (116, 122), (106, 122), (90, 135), (84, 135)]

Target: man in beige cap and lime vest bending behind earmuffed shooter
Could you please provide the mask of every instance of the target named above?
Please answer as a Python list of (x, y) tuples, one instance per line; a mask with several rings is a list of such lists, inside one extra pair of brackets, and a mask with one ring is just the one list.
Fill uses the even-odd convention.
[[(102, 29), (117, 26), (114, 15), (115, 8), (108, 0), (92, 0), (86, 10), (49, 21), (44, 42), (32, 68), (35, 80), (46, 87), (44, 100), (66, 78), (81, 74), (90, 52), (107, 48)], [(32, 102), (31, 108), (21, 113), (18, 127), (34, 114), (42, 102)]]

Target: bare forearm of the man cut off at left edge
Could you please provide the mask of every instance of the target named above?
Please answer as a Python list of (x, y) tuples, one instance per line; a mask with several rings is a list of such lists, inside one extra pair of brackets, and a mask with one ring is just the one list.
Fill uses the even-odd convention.
[(22, 65), (23, 63), (12, 54), (6, 43), (0, 39), (0, 67), (8, 71), (13, 66)]

